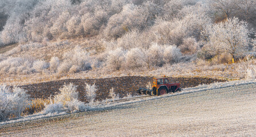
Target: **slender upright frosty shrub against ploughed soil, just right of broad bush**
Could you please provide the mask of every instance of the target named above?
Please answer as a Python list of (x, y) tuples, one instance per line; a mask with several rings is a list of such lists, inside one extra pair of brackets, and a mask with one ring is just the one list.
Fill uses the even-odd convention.
[(94, 99), (96, 97), (96, 91), (97, 88), (95, 84), (88, 84), (86, 83), (86, 99), (88, 100), (89, 103), (93, 103)]

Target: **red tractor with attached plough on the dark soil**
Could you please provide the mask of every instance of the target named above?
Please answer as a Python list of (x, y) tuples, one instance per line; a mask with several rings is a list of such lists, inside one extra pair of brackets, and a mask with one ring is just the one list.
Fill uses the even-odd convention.
[(169, 92), (181, 91), (180, 83), (169, 83), (166, 77), (153, 78), (152, 88), (139, 88), (139, 94), (164, 95)]

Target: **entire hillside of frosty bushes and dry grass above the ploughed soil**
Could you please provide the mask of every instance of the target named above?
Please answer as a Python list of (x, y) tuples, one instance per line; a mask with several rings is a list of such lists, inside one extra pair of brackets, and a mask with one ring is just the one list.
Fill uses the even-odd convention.
[(255, 15), (254, 0), (3, 0), (0, 46), (16, 46), (0, 54), (0, 82), (148, 74), (252, 79)]

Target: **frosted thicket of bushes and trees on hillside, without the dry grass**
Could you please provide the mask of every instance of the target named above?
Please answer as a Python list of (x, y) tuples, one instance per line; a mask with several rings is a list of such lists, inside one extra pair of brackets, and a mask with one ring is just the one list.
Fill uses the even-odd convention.
[[(1, 55), (1, 74), (132, 70), (256, 49), (254, 0), (3, 0), (0, 13), (0, 45), (30, 42)], [(11, 57), (74, 37), (93, 38), (97, 55), (76, 47), (48, 62)]]

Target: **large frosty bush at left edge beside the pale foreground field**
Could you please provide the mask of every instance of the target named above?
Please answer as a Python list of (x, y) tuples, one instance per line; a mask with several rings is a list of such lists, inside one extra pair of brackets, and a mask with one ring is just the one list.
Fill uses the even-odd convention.
[(28, 103), (29, 95), (20, 87), (0, 86), (0, 120), (7, 119), (11, 115), (21, 116)]

